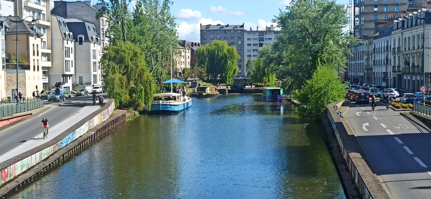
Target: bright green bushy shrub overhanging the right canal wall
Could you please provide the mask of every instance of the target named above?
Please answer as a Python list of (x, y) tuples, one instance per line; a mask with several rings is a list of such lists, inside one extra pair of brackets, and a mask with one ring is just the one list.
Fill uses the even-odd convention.
[(319, 66), (297, 94), (301, 103), (299, 115), (312, 119), (319, 117), (330, 103), (344, 99), (346, 88), (333, 68)]

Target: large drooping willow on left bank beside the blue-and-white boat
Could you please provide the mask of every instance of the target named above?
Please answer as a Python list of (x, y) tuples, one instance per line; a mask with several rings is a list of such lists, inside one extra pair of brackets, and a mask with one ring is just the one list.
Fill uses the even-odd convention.
[[(144, 53), (130, 42), (119, 42), (106, 47), (100, 59), (103, 83), (109, 98), (115, 99), (116, 107), (140, 110), (149, 105), (153, 97), (153, 76), (145, 62)], [(122, 74), (128, 68), (127, 74)], [(150, 106), (148, 106), (150, 109)]]

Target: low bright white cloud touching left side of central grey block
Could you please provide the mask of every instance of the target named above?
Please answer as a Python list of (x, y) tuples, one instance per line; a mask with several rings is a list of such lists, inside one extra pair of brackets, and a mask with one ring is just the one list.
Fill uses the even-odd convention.
[(177, 26), (178, 36), (181, 40), (187, 40), (187, 41), (197, 41), (200, 42), (200, 24), (202, 25), (225, 25), (225, 23), (216, 20), (213, 21), (212, 19), (206, 19), (201, 18), (197, 23), (188, 24), (187, 22), (181, 22)]

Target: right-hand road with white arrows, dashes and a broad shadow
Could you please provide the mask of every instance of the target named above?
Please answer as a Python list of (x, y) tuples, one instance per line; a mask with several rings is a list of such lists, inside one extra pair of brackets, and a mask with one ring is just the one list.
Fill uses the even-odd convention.
[(351, 106), (344, 117), (362, 145), (365, 162), (394, 199), (431, 196), (431, 134), (378, 103)]

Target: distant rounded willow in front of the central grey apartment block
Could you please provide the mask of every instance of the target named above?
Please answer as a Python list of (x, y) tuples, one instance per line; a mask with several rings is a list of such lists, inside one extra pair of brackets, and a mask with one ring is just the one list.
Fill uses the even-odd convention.
[(227, 41), (212, 41), (196, 50), (197, 65), (202, 65), (209, 79), (220, 79), (226, 84), (234, 83), (238, 73), (237, 60), (240, 56), (235, 46), (229, 46)]

